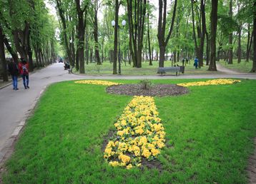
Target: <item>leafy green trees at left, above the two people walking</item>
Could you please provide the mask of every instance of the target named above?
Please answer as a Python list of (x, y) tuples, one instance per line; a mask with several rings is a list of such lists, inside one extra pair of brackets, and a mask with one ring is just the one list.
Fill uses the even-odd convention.
[(43, 0), (3, 0), (0, 7), (0, 62), (4, 81), (8, 81), (7, 52), (16, 63), (19, 58), (29, 61), (29, 71), (56, 59), (56, 21), (48, 14)]

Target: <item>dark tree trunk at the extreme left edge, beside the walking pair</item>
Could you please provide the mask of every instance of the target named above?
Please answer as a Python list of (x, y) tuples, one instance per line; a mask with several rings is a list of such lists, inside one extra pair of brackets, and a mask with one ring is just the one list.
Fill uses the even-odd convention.
[(0, 24), (0, 62), (3, 69), (3, 81), (8, 81), (6, 58), (4, 53), (4, 33)]

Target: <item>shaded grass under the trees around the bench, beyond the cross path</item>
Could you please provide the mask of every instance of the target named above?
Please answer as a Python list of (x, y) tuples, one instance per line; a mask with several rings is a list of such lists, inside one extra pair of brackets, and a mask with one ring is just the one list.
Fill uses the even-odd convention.
[[(203, 66), (202, 68), (195, 69), (193, 66), (194, 61), (190, 60), (190, 63), (187, 63), (185, 66), (185, 74), (218, 74), (220, 72), (212, 72), (207, 71), (208, 66)], [(157, 68), (158, 68), (158, 61), (152, 62), (153, 66), (149, 66), (149, 62), (142, 62), (142, 68), (133, 68), (132, 65), (129, 63), (121, 64), (121, 73), (122, 75), (127, 76), (156, 76)], [(175, 63), (179, 66), (182, 66), (181, 62)], [(171, 61), (164, 61), (164, 67), (172, 66)], [(113, 73), (113, 66), (112, 63), (105, 61), (102, 65), (97, 65), (97, 63), (89, 63), (85, 65), (85, 75), (112, 75)], [(118, 64), (117, 64), (117, 72), (118, 72)], [(78, 73), (74, 70), (74, 73)], [(174, 75), (175, 73), (167, 73), (167, 75)]]

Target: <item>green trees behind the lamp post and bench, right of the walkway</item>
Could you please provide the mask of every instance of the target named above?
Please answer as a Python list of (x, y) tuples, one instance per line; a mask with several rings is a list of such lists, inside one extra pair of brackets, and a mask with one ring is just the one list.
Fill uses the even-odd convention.
[[(255, 53), (255, 46), (252, 46), (256, 17), (253, 0), (173, 0), (169, 4), (159, 0), (158, 5), (149, 0), (52, 2), (58, 10), (61, 41), (67, 58), (80, 73), (84, 73), (84, 58), (87, 63), (94, 58), (97, 64), (110, 60), (113, 73), (117, 73), (118, 24), (112, 29), (112, 20), (127, 21), (127, 26), (120, 31), (124, 43), (122, 55), (137, 68), (142, 67), (144, 55), (149, 58), (149, 64), (153, 56), (157, 57), (162, 67), (167, 58), (165, 54), (171, 53), (174, 61), (181, 56), (197, 56), (200, 66), (205, 59), (206, 64), (210, 64), (209, 70), (216, 71), (215, 60), (222, 58), (232, 64), (234, 54), (240, 62), (241, 58), (248, 61)], [(125, 12), (119, 16), (121, 6)], [(157, 26), (154, 23), (156, 7)], [(99, 9), (104, 15), (101, 21)], [(255, 72), (255, 63), (252, 72)]]

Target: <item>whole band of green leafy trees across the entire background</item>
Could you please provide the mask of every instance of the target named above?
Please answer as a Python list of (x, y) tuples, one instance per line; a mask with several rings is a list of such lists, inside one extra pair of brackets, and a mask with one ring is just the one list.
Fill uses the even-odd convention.
[[(118, 24), (112, 28), (112, 20), (127, 21), (120, 31), (125, 64), (128, 61), (141, 68), (147, 58), (149, 65), (155, 59), (164, 66), (170, 55), (174, 62), (197, 56), (200, 66), (206, 61), (209, 70), (215, 71), (215, 61), (225, 59), (232, 64), (235, 56), (238, 62), (253, 58), (252, 72), (256, 71), (254, 0), (159, 0), (158, 4), (149, 0), (49, 1), (57, 10), (60, 44), (79, 73), (84, 73), (85, 61), (113, 62), (113, 73), (117, 73)], [(56, 51), (56, 27), (44, 1), (4, 0), (0, 5), (0, 43), (14, 60), (19, 53), (28, 59), (31, 69), (50, 61)], [(123, 15), (119, 15), (121, 8)], [(99, 19), (99, 11), (103, 19)], [(0, 47), (4, 48), (3, 44)], [(2, 56), (4, 53), (1, 63), (5, 66)]]

